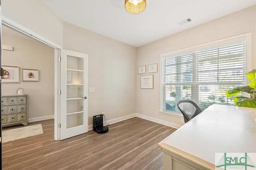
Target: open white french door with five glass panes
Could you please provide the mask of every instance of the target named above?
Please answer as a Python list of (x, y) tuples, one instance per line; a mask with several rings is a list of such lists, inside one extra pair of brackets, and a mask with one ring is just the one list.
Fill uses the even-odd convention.
[(60, 140), (88, 132), (88, 55), (60, 50)]

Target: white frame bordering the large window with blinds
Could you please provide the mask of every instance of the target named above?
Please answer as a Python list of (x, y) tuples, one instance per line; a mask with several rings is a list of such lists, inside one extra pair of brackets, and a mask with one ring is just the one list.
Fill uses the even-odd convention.
[[(251, 53), (252, 53), (252, 40), (251, 40), (251, 32), (245, 33), (245, 34), (240, 34), (240, 35), (236, 35), (236, 36), (232, 36), (232, 37), (228, 37), (228, 38), (223, 38), (220, 40), (216, 40), (216, 41), (212, 41), (212, 42), (208, 42), (208, 43), (204, 43), (204, 44), (200, 44), (200, 45), (196, 45), (196, 46), (192, 46), (192, 47), (188, 47), (188, 48), (184, 48), (184, 49), (180, 49), (180, 50), (175, 50), (172, 52), (166, 52), (164, 54), (160, 54), (160, 109), (159, 112), (162, 114), (167, 114), (167, 115), (172, 115), (172, 116), (176, 116), (176, 117), (183, 117), (181, 113), (177, 113), (177, 112), (172, 112), (172, 111), (166, 111), (166, 110), (162, 110), (162, 104), (163, 104), (163, 97), (162, 97), (162, 72), (163, 72), (163, 63), (162, 63), (162, 58), (165, 57), (170, 57), (170, 56), (174, 56), (174, 55), (180, 55), (180, 54), (184, 54), (184, 53), (189, 53), (189, 52), (194, 52), (197, 50), (204, 50), (206, 48), (213, 48), (215, 46), (222, 46), (225, 44), (231, 44), (234, 42), (239, 42), (239, 41), (246, 41), (246, 72), (251, 70)], [(197, 59), (196, 59), (197, 60)], [(194, 70), (194, 69), (193, 69)], [(246, 77), (246, 86), (248, 85), (248, 78)], [(163, 93), (164, 94), (164, 93)], [(246, 94), (247, 96), (248, 94)]]

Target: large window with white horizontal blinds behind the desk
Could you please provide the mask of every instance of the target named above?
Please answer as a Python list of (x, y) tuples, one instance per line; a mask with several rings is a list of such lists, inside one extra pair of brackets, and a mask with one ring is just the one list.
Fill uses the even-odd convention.
[[(178, 112), (190, 99), (204, 110), (212, 104), (234, 105), (226, 90), (246, 84), (246, 41), (162, 58), (162, 110)], [(244, 95), (244, 94), (242, 94)]]

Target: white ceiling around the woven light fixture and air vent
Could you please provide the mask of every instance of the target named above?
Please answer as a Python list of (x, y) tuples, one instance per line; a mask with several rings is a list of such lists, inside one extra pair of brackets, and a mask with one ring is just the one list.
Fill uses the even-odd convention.
[[(147, 0), (130, 14), (124, 0), (42, 0), (62, 20), (139, 47), (256, 4), (256, 0)], [(191, 18), (191, 22), (178, 22)], [(235, 18), (234, 18), (235, 20)]]

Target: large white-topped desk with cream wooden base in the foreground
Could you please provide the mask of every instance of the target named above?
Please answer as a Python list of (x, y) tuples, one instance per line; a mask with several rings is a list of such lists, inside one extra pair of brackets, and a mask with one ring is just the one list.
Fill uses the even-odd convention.
[(158, 144), (164, 170), (215, 169), (215, 153), (256, 152), (256, 109), (213, 104)]

